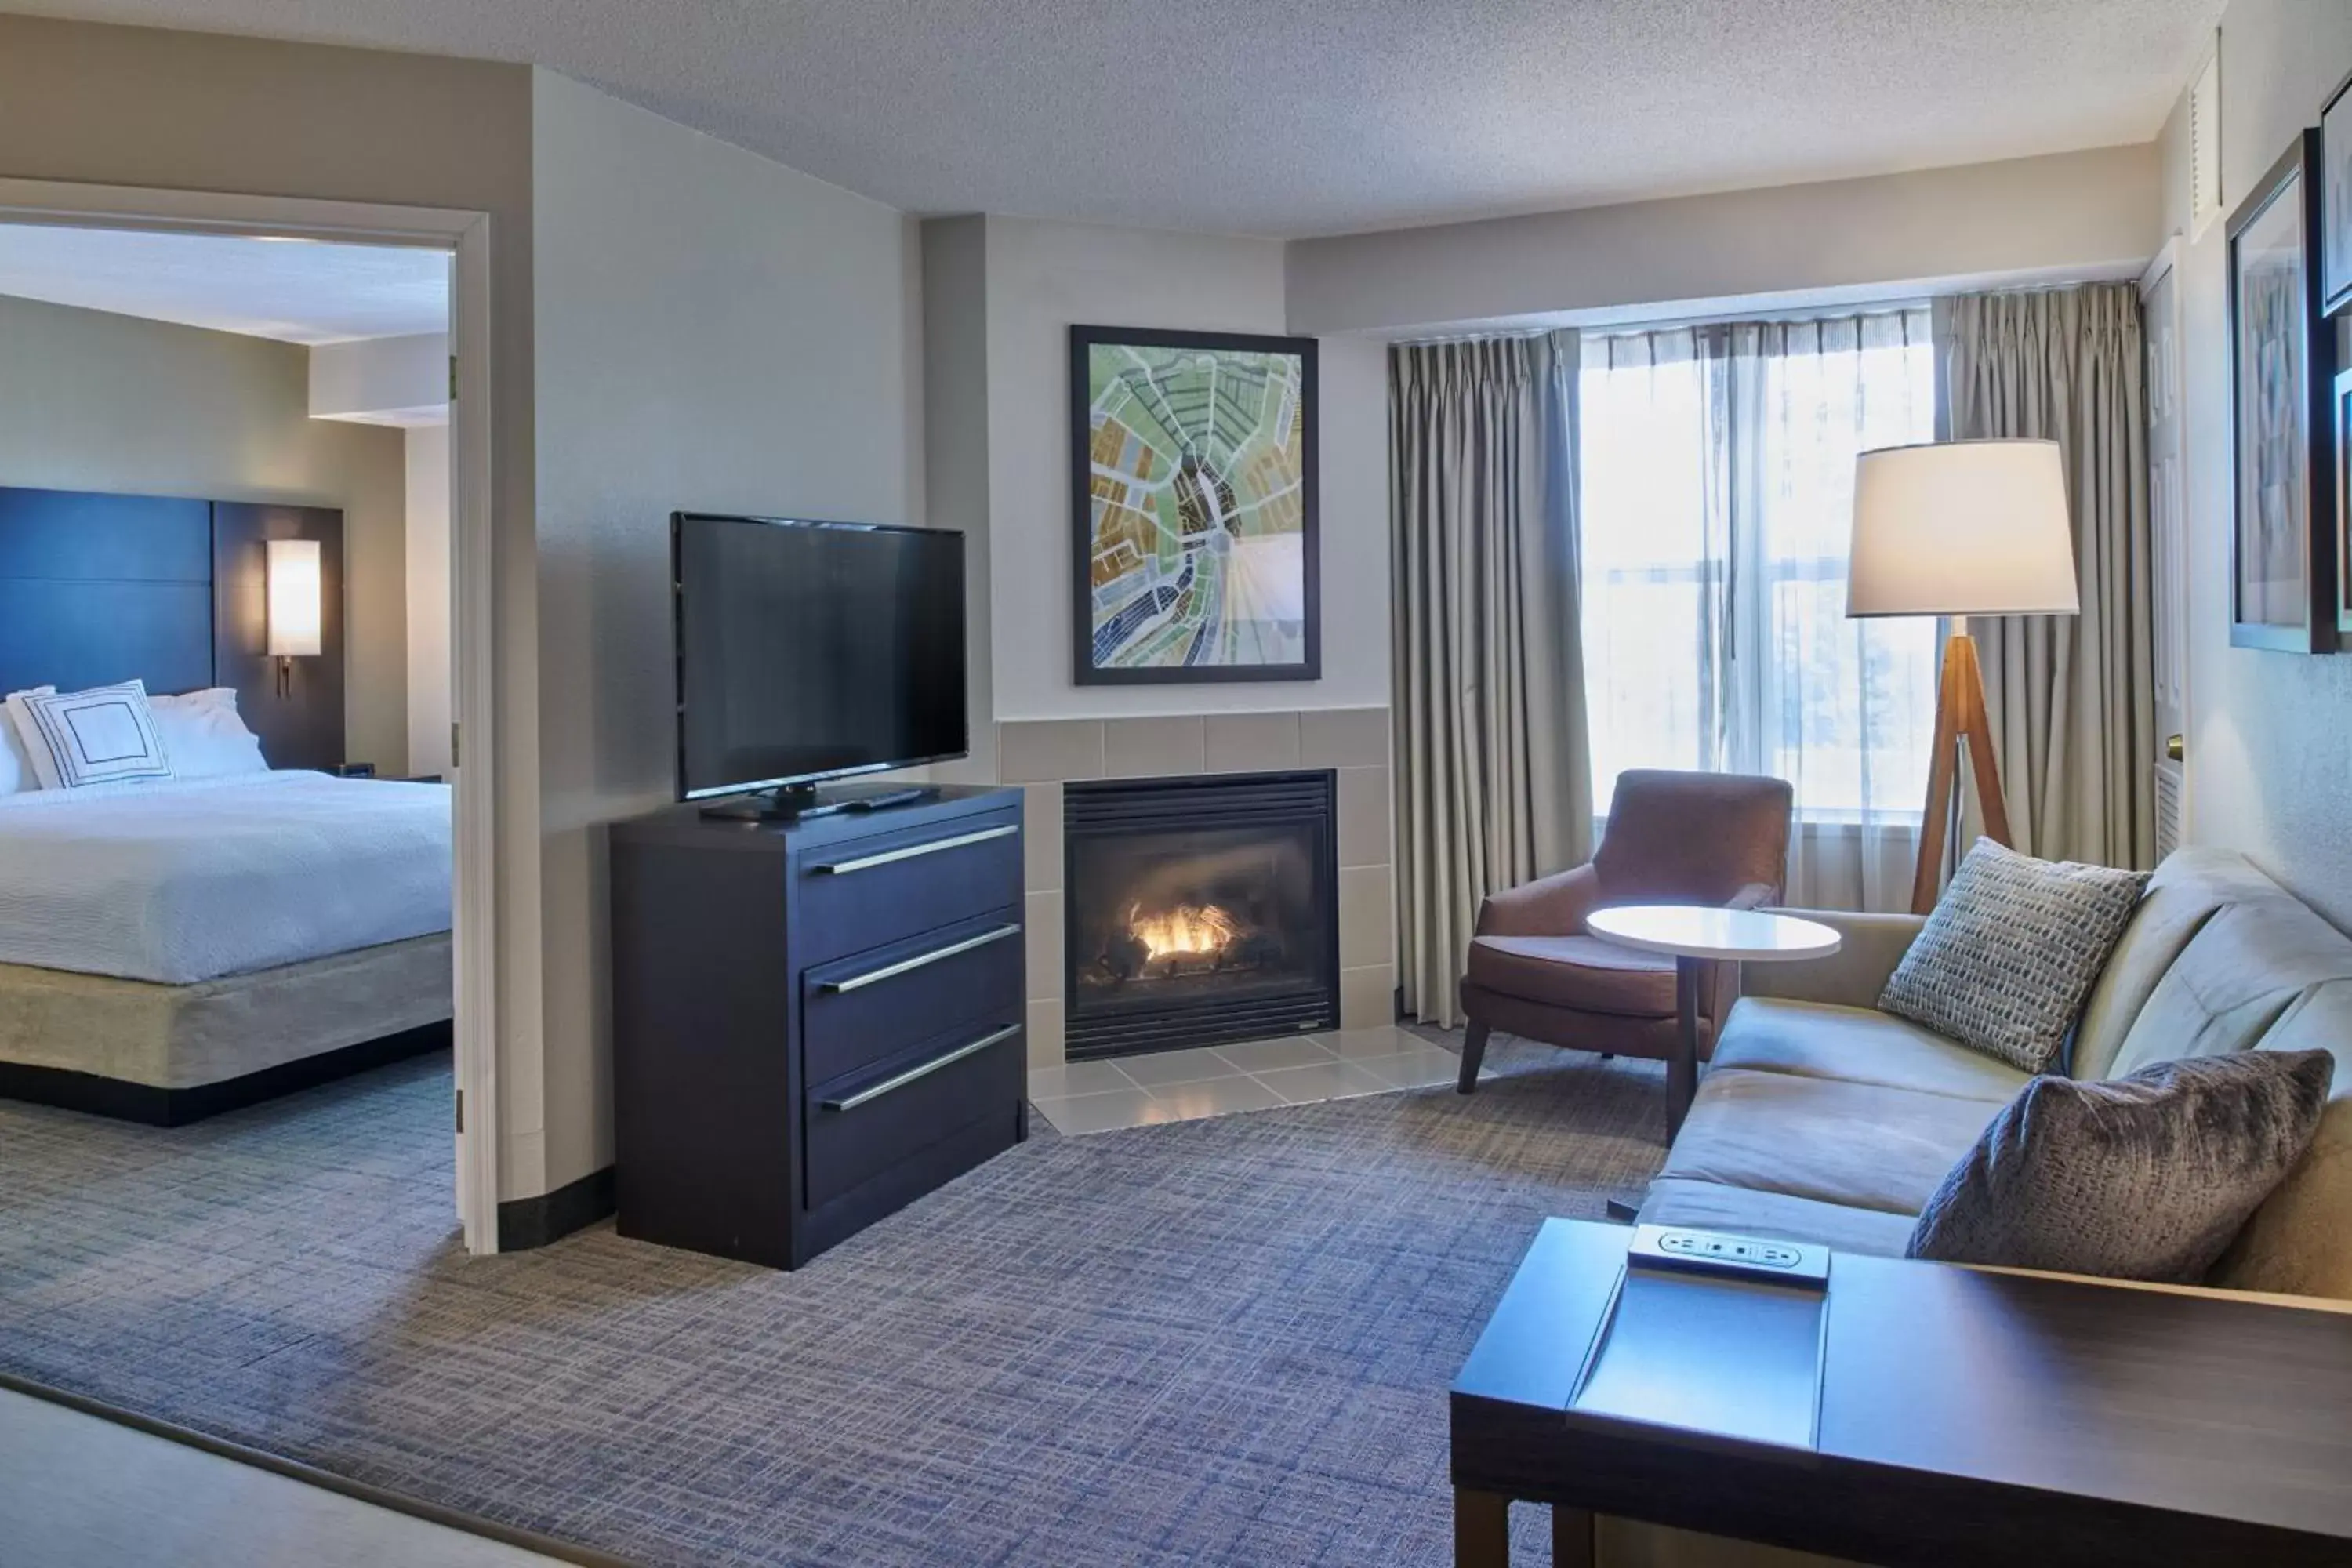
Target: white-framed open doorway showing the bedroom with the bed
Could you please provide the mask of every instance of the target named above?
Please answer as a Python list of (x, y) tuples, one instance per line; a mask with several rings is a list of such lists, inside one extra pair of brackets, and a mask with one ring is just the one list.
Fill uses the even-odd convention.
[(158, 1157), (252, 1133), (299, 1164), (348, 1157), (268, 1135), (327, 1095), (416, 1143), (388, 1168), (447, 1182), (447, 1241), (494, 1251), (489, 1138), (449, 1140), (461, 1081), (492, 1100), (466, 959), (487, 813), (463, 804), (487, 769), (456, 766), (480, 233), (468, 259), (466, 214), (379, 237), (343, 207), (103, 193), (68, 219), (21, 190), (0, 190), (0, 1114), (49, 1140), (103, 1117)]

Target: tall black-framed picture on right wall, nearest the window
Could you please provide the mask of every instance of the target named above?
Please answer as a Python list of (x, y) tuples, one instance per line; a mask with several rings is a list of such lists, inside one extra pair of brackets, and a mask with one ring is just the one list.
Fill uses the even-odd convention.
[(2230, 395), (2237, 505), (2230, 642), (2336, 649), (2336, 334), (2319, 310), (2319, 132), (2230, 214)]

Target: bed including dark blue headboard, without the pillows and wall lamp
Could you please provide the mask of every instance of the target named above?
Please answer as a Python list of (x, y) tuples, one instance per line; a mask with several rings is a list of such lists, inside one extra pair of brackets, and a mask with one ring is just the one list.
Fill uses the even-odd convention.
[[(268, 538), (322, 552), (285, 670)], [(0, 1095), (179, 1124), (447, 1048), (449, 790), (320, 771), (341, 656), (341, 512), (0, 487), (0, 691), (233, 693), (259, 741), (235, 776), (0, 790)]]

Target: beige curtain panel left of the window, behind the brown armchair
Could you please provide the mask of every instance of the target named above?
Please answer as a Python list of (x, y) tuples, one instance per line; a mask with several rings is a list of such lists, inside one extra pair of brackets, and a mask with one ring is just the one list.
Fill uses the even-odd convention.
[(1390, 350), (1397, 976), (1458, 1020), (1479, 900), (1581, 865), (1576, 334)]

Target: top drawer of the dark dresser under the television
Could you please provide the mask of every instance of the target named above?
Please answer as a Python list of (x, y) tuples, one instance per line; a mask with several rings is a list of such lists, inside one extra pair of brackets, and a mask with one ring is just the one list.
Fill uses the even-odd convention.
[(804, 964), (1021, 903), (1021, 813), (995, 811), (811, 849), (793, 947)]

